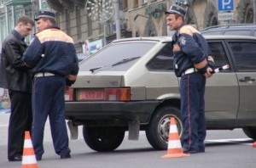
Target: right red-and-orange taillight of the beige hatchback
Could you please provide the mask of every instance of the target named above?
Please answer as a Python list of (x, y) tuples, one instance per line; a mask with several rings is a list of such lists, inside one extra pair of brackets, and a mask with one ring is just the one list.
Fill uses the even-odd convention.
[(109, 101), (130, 101), (130, 88), (106, 88), (104, 92), (104, 99)]

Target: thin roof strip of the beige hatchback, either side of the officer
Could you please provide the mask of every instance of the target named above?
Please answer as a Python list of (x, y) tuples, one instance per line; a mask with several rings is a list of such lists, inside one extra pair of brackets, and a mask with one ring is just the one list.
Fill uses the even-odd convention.
[[(256, 40), (254, 36), (235, 36), (235, 35), (203, 35), (206, 39), (212, 40)], [(157, 42), (172, 42), (172, 36), (142, 36), (142, 37), (129, 37), (114, 40), (114, 42), (129, 42), (129, 41), (157, 41)]]

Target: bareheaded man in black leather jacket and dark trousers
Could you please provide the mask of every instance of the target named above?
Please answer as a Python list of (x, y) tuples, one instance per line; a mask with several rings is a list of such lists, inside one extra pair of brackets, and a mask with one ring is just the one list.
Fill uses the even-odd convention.
[(9, 117), (8, 159), (21, 160), (24, 132), (32, 126), (32, 78), (30, 70), (23, 62), (26, 50), (24, 39), (32, 31), (34, 22), (28, 16), (20, 16), (2, 44), (0, 87), (9, 89), (11, 114)]

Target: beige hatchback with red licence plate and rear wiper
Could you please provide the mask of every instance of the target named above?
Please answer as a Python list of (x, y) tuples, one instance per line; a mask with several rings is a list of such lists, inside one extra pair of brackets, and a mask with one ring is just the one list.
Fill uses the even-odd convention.
[[(207, 80), (207, 129), (242, 128), (256, 139), (256, 37), (206, 38), (215, 66), (230, 65)], [(166, 149), (170, 117), (183, 132), (172, 61), (172, 38), (164, 36), (119, 39), (81, 61), (77, 81), (65, 93), (73, 137), (83, 126), (90, 148), (111, 151), (126, 131), (133, 140), (145, 131), (153, 148)]]

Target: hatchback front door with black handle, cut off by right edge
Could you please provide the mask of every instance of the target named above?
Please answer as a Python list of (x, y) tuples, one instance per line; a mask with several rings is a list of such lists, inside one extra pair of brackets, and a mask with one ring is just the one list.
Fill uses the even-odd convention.
[(236, 62), (240, 101), (238, 119), (256, 118), (256, 40), (227, 42)]

